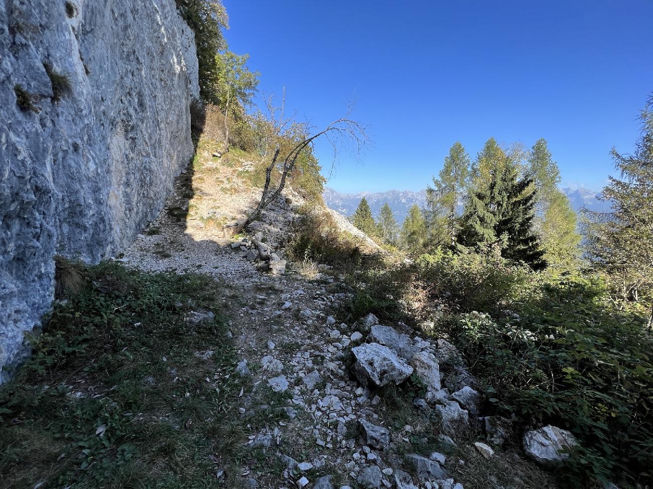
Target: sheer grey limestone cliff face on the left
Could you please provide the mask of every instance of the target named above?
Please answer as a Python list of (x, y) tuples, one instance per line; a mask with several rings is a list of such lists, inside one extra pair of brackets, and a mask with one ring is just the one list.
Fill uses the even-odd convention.
[(53, 256), (112, 256), (157, 215), (198, 95), (174, 0), (0, 0), (0, 382), (50, 308)]

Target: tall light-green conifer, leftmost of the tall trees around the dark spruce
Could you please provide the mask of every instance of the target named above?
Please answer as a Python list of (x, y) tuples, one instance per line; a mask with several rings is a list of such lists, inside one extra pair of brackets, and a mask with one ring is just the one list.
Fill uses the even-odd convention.
[(445, 157), (444, 166), (433, 177), (434, 187), (426, 188), (426, 219), (429, 239), (434, 246), (453, 246), (458, 228), (458, 206), (464, 196), (470, 175), (470, 156), (456, 141)]

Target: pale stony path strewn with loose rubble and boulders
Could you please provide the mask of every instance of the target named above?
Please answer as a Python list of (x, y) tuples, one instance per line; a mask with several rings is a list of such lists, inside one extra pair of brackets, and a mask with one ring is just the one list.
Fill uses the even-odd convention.
[[(327, 269), (309, 277), (285, 261), (283, 233), (297, 218), (292, 203), (271, 209), (253, 235), (227, 238), (218, 226), (175, 214), (187, 210), (188, 183), (182, 175), (161, 216), (118, 259), (146, 271), (217, 280), (216, 294), (231, 310), (238, 374), (248, 379), (234, 417), (282, 414), (267, 418), (262, 429), (248, 423), (242, 440), (252, 453), (274, 454), (275, 470), (225, 462), (242, 468), (242, 484), (554, 487), (512, 444), (509, 420), (483, 417), (475, 379), (453, 346), (414, 336), (401, 324), (379, 325), (372, 315), (351, 318), (345, 308), (351, 289), (342, 277)], [(214, 215), (231, 219), (255, 198), (208, 190), (202, 205), (215, 209), (219, 201)], [(566, 443), (564, 436), (536, 432), (531, 455), (555, 463), (560, 455), (550, 447)]]

